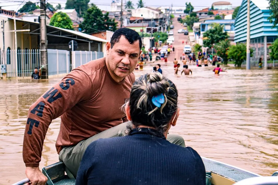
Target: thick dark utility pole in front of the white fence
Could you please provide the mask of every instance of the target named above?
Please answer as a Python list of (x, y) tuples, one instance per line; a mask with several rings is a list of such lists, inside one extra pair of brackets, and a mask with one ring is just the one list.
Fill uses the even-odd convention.
[[(44, 67), (41, 69), (41, 78), (48, 79), (48, 66), (47, 66), (47, 35), (46, 35), (46, 6), (45, 0), (40, 0), (40, 51), (41, 51), (41, 65)], [(39, 66), (40, 67), (40, 66)]]

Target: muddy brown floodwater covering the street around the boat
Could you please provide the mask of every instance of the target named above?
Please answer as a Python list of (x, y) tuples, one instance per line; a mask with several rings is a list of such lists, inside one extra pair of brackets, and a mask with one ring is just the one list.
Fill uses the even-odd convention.
[[(261, 175), (278, 170), (278, 71), (228, 68), (215, 76), (212, 67), (189, 68), (193, 75), (176, 76), (173, 65), (162, 65), (179, 92), (180, 116), (170, 133), (182, 135), (201, 156)], [(151, 71), (148, 64), (135, 75)], [(0, 80), (0, 184), (26, 178), (22, 143), (29, 106), (60, 79)], [(58, 161), (59, 125), (57, 118), (49, 126), (40, 168)]]

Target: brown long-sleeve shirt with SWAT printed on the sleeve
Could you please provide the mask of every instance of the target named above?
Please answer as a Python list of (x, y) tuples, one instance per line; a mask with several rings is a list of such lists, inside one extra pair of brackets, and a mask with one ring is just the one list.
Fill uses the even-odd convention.
[(121, 106), (129, 98), (134, 81), (131, 73), (121, 82), (115, 82), (105, 58), (72, 70), (29, 108), (23, 140), (25, 166), (39, 166), (48, 126), (59, 116), (58, 153), (62, 146), (76, 145), (127, 121)]

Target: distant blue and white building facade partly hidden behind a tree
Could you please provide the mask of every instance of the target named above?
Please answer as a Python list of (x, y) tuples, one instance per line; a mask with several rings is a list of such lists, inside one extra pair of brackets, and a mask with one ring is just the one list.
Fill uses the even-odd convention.
[(212, 24), (217, 23), (220, 25), (224, 25), (224, 31), (234, 31), (235, 29), (235, 19), (232, 20), (206, 20), (200, 24), (201, 33), (207, 31), (212, 28)]

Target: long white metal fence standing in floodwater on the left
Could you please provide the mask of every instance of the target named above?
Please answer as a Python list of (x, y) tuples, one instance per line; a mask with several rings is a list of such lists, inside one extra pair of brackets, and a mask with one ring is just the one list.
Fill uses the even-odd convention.
[[(48, 49), (48, 75), (67, 74), (82, 64), (103, 57), (103, 52), (74, 51), (70, 64), (70, 52), (67, 50)], [(40, 68), (40, 50), (0, 50), (0, 64), (6, 65), (7, 77), (31, 77), (34, 68)], [(0, 77), (2, 77), (0, 73)]]

